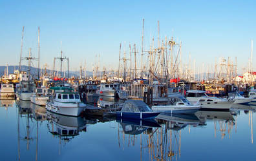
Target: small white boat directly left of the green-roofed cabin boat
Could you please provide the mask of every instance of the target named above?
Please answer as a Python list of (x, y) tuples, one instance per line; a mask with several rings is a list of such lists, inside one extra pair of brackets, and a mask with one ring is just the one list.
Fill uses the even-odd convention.
[(30, 100), (34, 104), (37, 104), (39, 106), (45, 106), (50, 93), (52, 93), (52, 90), (48, 88), (36, 88), (35, 91), (32, 93)]

